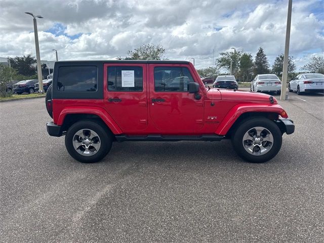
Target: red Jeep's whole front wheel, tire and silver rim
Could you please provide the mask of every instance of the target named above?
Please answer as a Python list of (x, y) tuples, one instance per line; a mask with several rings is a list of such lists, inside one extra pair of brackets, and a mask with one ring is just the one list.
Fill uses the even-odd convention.
[(258, 117), (243, 121), (231, 138), (235, 152), (252, 163), (264, 163), (280, 150), (282, 135), (271, 120)]

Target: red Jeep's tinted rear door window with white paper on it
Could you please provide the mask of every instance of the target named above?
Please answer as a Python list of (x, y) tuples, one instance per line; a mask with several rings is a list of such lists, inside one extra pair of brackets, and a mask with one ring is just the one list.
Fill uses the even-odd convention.
[(143, 68), (132, 66), (108, 67), (108, 90), (143, 91)]

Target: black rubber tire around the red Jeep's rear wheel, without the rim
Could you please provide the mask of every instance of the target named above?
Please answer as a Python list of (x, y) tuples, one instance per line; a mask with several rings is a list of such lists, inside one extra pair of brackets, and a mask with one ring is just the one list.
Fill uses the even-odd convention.
[[(73, 137), (75, 133), (82, 129), (91, 129), (98, 134), (101, 145), (99, 150), (91, 156), (84, 156), (79, 154), (73, 147)], [(73, 124), (66, 132), (65, 147), (68, 153), (77, 161), (81, 163), (95, 163), (104, 158), (110, 151), (112, 146), (113, 136), (109, 129), (102, 122), (95, 122), (92, 120), (78, 121)]]

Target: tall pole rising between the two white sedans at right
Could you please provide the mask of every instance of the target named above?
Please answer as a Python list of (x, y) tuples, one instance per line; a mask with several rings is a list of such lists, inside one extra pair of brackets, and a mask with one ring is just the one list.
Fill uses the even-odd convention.
[(280, 100), (286, 100), (286, 86), (287, 86), (287, 76), (288, 76), (288, 58), (289, 58), (289, 41), (290, 41), (290, 25), (291, 25), (291, 22), (292, 22), (292, 5), (293, 5), (293, 0), (289, 0), (289, 2), (288, 2), (288, 14), (287, 14), (284, 68), (282, 70), (282, 82), (281, 82)]

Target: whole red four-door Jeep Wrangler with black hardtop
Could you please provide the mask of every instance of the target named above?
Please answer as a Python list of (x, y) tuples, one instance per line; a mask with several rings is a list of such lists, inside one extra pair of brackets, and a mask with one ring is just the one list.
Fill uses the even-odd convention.
[(261, 163), (279, 151), (293, 121), (270, 95), (205, 87), (186, 61), (60, 61), (46, 97), (51, 136), (76, 160), (102, 159), (113, 141), (231, 139)]

